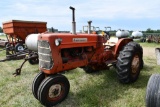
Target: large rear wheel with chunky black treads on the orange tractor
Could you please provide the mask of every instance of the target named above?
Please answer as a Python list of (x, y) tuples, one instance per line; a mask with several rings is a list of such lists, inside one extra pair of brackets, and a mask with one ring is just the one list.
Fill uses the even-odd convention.
[(143, 63), (141, 49), (137, 43), (130, 42), (120, 51), (116, 71), (121, 83), (132, 83), (137, 80)]

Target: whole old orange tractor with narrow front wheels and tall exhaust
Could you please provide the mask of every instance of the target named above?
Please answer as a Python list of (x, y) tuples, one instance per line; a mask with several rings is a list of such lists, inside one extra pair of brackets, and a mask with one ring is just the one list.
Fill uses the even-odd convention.
[(45, 106), (54, 106), (68, 95), (70, 84), (61, 73), (81, 67), (87, 73), (116, 67), (122, 83), (135, 82), (143, 67), (143, 49), (132, 39), (123, 38), (110, 42), (108, 35), (76, 34), (75, 8), (73, 32), (42, 33), (38, 36), (40, 73), (34, 78), (32, 92)]

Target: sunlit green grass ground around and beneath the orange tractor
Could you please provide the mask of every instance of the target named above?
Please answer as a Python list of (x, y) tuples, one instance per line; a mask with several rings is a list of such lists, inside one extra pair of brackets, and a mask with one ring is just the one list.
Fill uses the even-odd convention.
[[(141, 46), (144, 49), (144, 68), (135, 83), (119, 83), (114, 68), (93, 74), (77, 68), (64, 74), (70, 81), (71, 89), (67, 99), (56, 107), (145, 107), (148, 79), (151, 74), (160, 73), (154, 53), (160, 45), (141, 43)], [(5, 52), (0, 53), (0, 59), (3, 58)], [(27, 62), (21, 76), (12, 75), (22, 61), (0, 62), (1, 107), (43, 107), (31, 90), (32, 81), (39, 72), (38, 65)]]

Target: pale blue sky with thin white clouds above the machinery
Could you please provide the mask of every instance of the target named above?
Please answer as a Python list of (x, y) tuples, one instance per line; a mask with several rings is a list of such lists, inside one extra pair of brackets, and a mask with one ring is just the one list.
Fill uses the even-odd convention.
[(160, 0), (1, 0), (0, 23), (9, 20), (44, 21), (47, 27), (60, 31), (72, 30), (74, 7), (76, 30), (87, 21), (105, 30), (160, 29)]

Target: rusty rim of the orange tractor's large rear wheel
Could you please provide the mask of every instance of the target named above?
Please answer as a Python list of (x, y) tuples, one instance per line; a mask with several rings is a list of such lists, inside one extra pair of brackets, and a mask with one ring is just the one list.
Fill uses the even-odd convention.
[(140, 65), (140, 59), (139, 59), (139, 56), (138, 55), (135, 55), (133, 57), (133, 60), (132, 60), (132, 74), (136, 74), (138, 72), (138, 69), (139, 69), (139, 65)]

